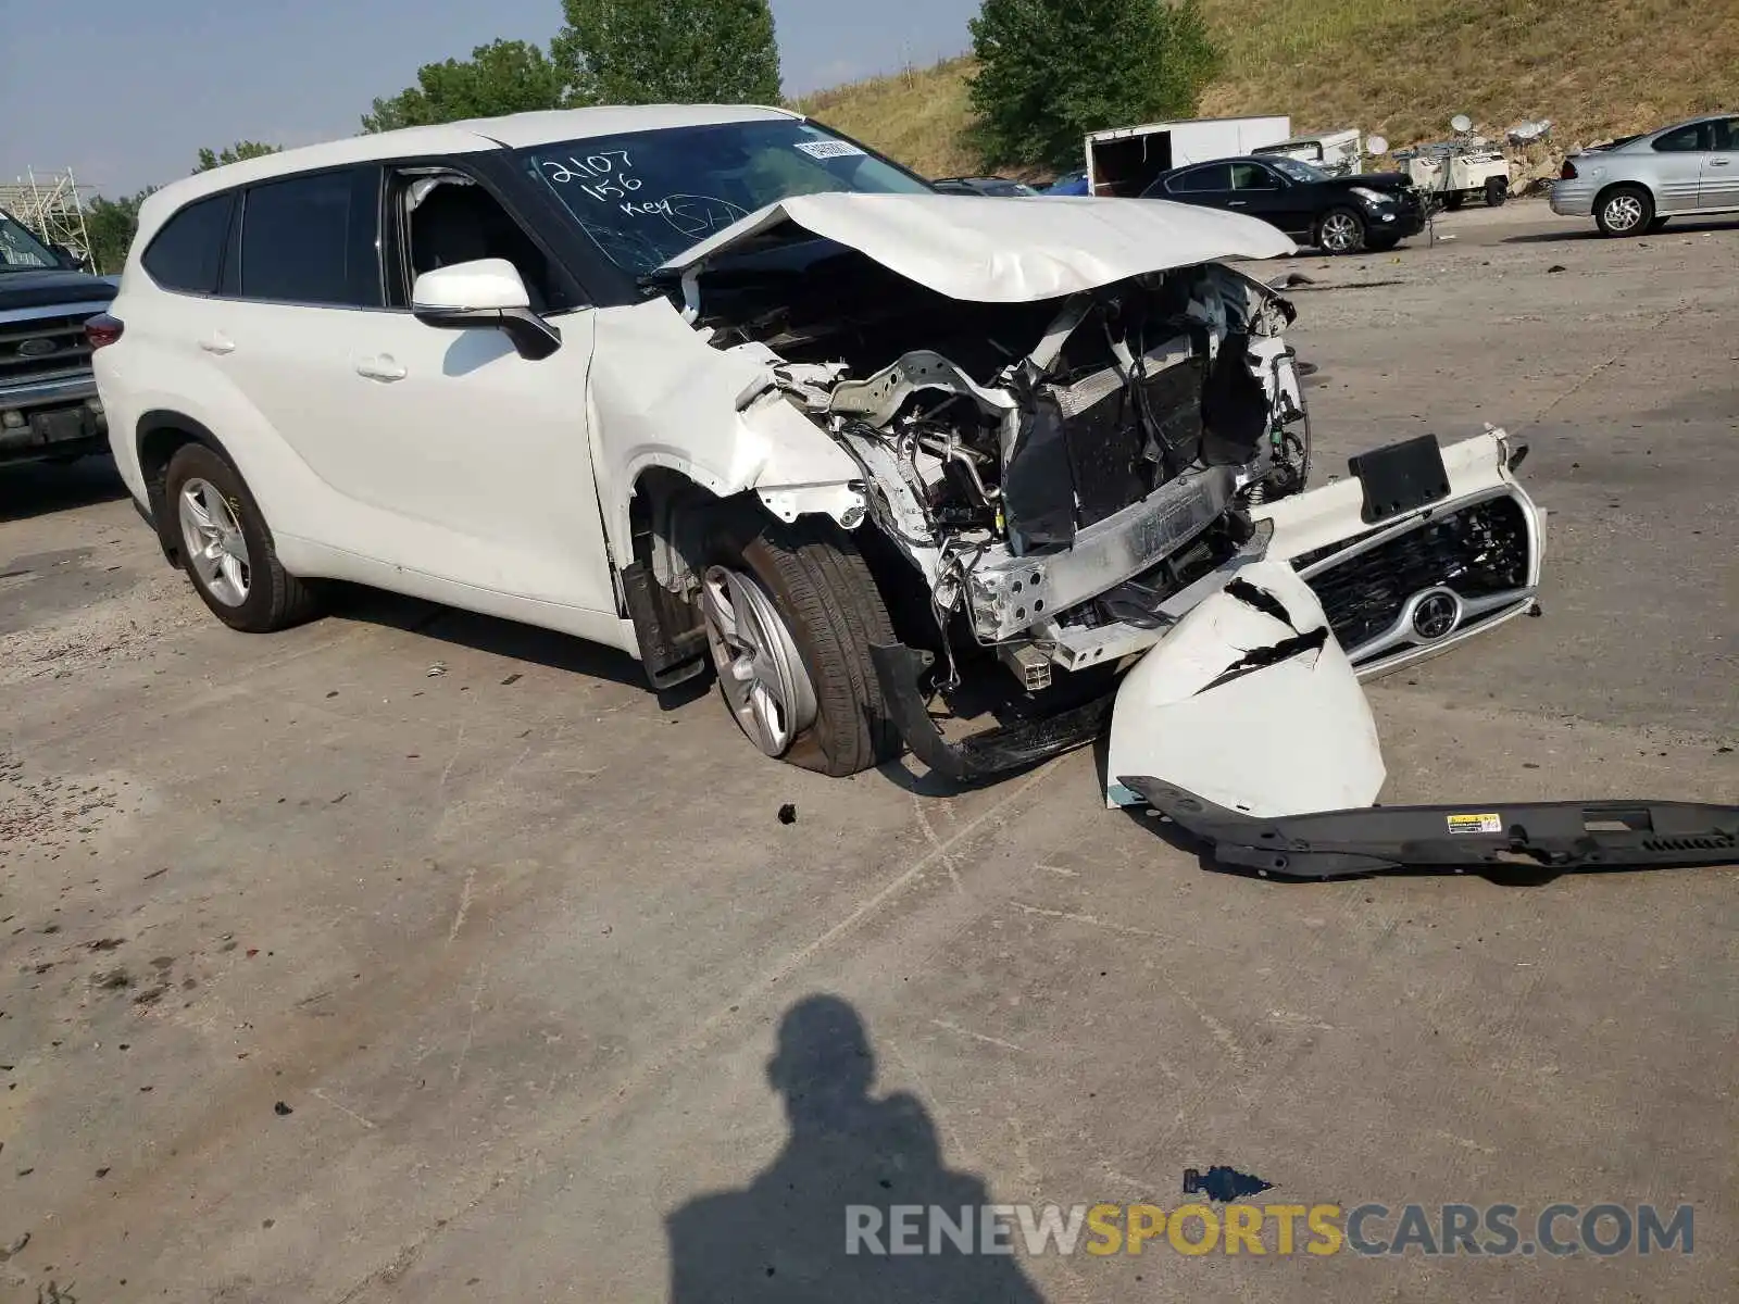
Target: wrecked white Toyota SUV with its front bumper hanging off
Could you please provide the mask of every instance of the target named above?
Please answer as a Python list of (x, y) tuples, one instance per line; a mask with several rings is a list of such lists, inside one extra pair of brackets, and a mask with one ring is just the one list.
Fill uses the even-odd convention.
[(716, 671), (769, 756), (843, 775), (904, 741), (972, 777), (1097, 735), (1210, 598), (1273, 636), (1200, 652), (1196, 690), (1530, 603), (1497, 431), (1303, 494), (1292, 308), (1223, 263), (1290, 249), (1163, 202), (937, 195), (777, 110), (530, 113), (157, 191), (92, 343), (132, 496), (237, 629), (374, 584), (659, 689)]

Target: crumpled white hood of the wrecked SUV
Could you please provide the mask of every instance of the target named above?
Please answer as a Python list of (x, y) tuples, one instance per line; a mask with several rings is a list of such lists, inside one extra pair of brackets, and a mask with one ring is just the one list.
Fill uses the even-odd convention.
[(689, 271), (791, 223), (951, 299), (1038, 303), (1223, 257), (1280, 257), (1268, 223), (1165, 200), (796, 195), (666, 263)]

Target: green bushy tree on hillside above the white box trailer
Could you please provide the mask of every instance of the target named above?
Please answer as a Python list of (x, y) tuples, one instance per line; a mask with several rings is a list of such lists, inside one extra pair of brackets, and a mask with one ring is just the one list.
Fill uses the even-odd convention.
[(970, 26), (991, 167), (1078, 167), (1089, 132), (1186, 118), (1219, 63), (1198, 0), (984, 0)]

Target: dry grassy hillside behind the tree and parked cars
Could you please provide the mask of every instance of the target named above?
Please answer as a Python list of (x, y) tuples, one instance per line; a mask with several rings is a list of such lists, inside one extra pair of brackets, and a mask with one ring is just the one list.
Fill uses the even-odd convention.
[[(1739, 0), (1205, 0), (1226, 56), (1203, 116), (1435, 139), (1551, 118), (1560, 148), (1739, 111)], [(802, 108), (929, 176), (977, 167), (970, 59), (838, 87)], [(1106, 123), (1127, 125), (1127, 123)]]

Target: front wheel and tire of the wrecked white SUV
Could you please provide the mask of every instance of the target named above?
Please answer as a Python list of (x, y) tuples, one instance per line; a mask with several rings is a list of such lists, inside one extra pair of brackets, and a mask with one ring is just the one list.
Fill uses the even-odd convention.
[[(836, 779), (897, 756), (899, 732), (870, 662), (870, 645), (892, 643), (894, 626), (852, 539), (824, 518), (783, 525), (755, 511), (715, 529), (706, 551), (708, 645), (725, 709), (744, 737), (767, 756)], [(760, 650), (748, 655), (744, 647)], [(762, 671), (743, 669), (748, 662), (784, 675), (783, 709), (774, 713), (783, 729), (744, 704), (744, 673), (770, 689)], [(770, 690), (774, 701), (779, 694)]]

